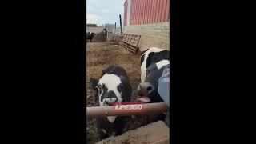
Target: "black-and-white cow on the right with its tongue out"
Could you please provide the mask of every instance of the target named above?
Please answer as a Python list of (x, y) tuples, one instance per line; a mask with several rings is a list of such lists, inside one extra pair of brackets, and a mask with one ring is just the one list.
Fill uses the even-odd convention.
[[(134, 94), (138, 96), (138, 102), (163, 102), (158, 94), (158, 79), (166, 66), (170, 64), (168, 50), (151, 47), (141, 56), (141, 83)], [(159, 114), (152, 121), (164, 120), (166, 116)]]

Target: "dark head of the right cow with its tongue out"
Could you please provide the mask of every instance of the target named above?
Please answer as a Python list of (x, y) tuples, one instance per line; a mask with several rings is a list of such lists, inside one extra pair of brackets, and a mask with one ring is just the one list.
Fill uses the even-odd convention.
[(163, 102), (158, 94), (158, 79), (162, 76), (164, 67), (169, 65), (168, 60), (152, 63), (146, 69), (146, 79), (138, 85), (134, 94), (138, 97), (138, 102)]

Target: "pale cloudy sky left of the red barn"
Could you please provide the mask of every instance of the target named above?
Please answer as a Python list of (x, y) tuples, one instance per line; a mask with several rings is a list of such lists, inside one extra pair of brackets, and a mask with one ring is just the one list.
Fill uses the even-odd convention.
[(121, 14), (123, 26), (124, 2), (125, 0), (86, 0), (86, 23), (102, 26), (117, 22), (118, 27)]

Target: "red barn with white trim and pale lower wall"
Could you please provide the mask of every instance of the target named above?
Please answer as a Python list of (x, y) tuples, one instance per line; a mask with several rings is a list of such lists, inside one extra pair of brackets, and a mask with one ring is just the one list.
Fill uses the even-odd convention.
[(140, 50), (150, 46), (170, 50), (170, 0), (126, 0), (124, 33), (140, 34)]

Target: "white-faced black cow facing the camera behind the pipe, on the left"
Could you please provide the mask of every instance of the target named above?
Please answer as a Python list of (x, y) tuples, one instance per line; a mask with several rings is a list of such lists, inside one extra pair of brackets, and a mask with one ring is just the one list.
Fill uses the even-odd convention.
[[(102, 70), (101, 78), (90, 78), (95, 90), (94, 106), (110, 106), (115, 102), (130, 102), (132, 93), (129, 78), (120, 66), (111, 65)], [(96, 118), (100, 139), (120, 135), (126, 125), (124, 116)]]

